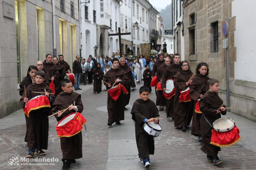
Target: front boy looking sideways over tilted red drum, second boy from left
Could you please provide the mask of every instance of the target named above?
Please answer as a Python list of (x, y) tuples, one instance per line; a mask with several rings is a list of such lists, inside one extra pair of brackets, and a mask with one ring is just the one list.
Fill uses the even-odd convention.
[[(84, 107), (81, 100), (81, 95), (72, 90), (72, 83), (68, 79), (63, 79), (61, 82), (62, 92), (56, 97), (53, 103), (52, 113), (58, 112), (57, 121), (62, 120), (65, 116), (79, 112), (82, 113)], [(68, 108), (64, 113), (60, 110)], [(62, 113), (62, 114), (61, 114)], [(62, 169), (68, 169), (71, 163), (75, 163), (78, 158), (82, 158), (82, 131), (71, 137), (61, 137), (60, 147), (62, 150)]]

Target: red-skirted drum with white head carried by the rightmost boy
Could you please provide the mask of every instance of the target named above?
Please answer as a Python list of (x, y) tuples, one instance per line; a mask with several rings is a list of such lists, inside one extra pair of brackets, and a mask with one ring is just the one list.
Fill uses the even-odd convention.
[(241, 139), (235, 122), (228, 117), (219, 118), (213, 122), (211, 144), (218, 147), (228, 147)]

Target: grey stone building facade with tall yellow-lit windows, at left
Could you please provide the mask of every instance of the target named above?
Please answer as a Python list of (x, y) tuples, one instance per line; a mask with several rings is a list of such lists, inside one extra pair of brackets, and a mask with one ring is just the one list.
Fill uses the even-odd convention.
[[(19, 83), (46, 53), (79, 54), (78, 0), (0, 0), (0, 118), (21, 108)], [(22, 114), (22, 113), (21, 113)]]

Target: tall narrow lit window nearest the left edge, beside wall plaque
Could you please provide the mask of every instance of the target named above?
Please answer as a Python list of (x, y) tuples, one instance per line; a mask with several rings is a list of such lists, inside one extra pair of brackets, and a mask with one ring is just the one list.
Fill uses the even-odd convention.
[(15, 25), (16, 25), (16, 46), (17, 46), (17, 82), (20, 83), (20, 35), (19, 35), (19, 2), (15, 2)]

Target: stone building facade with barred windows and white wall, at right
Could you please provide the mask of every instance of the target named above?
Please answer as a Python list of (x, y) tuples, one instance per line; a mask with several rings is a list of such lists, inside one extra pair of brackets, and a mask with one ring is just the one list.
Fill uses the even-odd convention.
[[(247, 4), (246, 7), (243, 4)], [(253, 64), (252, 67), (248, 67), (248, 64), (255, 64), (256, 61), (251, 57), (256, 54), (251, 53), (254, 47), (247, 48), (251, 44), (250, 41), (255, 41), (255, 37), (247, 34), (254, 32), (255, 24), (246, 20), (252, 27), (241, 28), (246, 22), (243, 19), (238, 20), (238, 17), (244, 15), (243, 12), (247, 13), (245, 18), (255, 16), (255, 10), (248, 8), (254, 5), (252, 0), (243, 3), (236, 0), (185, 0), (183, 23), (185, 60), (190, 62), (192, 72), (199, 62), (209, 64), (209, 76), (220, 81), (219, 95), (226, 104), (226, 49), (222, 48), (222, 40), (225, 39), (222, 35), (222, 23), (229, 18), (230, 107), (233, 107), (231, 111), (256, 121), (256, 111), (253, 107), (256, 104), (256, 95), (253, 93), (256, 81), (254, 78), (247, 78), (252, 74), (253, 68)], [(241, 42), (248, 44), (243, 47), (244, 43)], [(244, 60), (247, 62), (244, 63)]]

